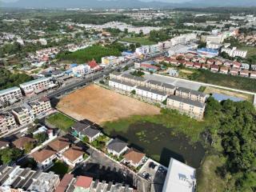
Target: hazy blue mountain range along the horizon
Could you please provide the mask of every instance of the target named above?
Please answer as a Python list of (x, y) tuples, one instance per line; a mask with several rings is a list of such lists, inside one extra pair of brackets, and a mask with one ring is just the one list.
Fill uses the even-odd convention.
[(18, 0), (1, 2), (2, 7), (21, 8), (178, 8), (207, 6), (256, 6), (256, 0), (188, 0), (188, 2), (141, 2), (140, 0)]

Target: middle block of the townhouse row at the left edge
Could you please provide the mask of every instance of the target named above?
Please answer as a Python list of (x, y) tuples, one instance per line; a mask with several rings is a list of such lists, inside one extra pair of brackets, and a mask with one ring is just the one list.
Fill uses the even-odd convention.
[(31, 107), (26, 104), (12, 110), (12, 114), (14, 114), (14, 118), (19, 125), (26, 125), (34, 121), (33, 111)]

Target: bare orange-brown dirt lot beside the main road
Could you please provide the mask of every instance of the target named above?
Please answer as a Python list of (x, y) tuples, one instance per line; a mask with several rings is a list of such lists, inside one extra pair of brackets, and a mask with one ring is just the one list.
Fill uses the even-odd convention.
[(160, 109), (100, 86), (91, 85), (67, 95), (58, 102), (58, 110), (78, 120), (102, 122), (128, 118), (131, 115), (159, 114)]

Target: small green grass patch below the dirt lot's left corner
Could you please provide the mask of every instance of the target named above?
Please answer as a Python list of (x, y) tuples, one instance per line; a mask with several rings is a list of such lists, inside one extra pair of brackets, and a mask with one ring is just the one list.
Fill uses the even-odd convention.
[(64, 131), (73, 126), (75, 122), (72, 118), (69, 118), (61, 113), (50, 115), (50, 117), (46, 118), (46, 121)]

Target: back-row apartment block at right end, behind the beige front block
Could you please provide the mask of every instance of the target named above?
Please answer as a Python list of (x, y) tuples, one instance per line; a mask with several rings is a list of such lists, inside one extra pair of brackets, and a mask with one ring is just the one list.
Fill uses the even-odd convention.
[(178, 87), (178, 89), (175, 91), (175, 95), (181, 98), (188, 98), (192, 101), (202, 103), (206, 102), (206, 94), (197, 90), (186, 89), (184, 87)]

